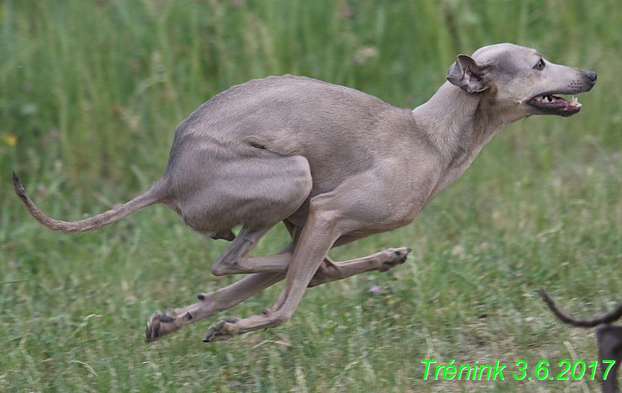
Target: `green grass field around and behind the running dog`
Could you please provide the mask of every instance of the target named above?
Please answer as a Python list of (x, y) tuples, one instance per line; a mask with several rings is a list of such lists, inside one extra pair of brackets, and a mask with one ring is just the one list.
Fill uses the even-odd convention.
[[(537, 290), (581, 316), (622, 301), (621, 26), (619, 0), (0, 0), (0, 391), (598, 392), (589, 369), (557, 379), (598, 352)], [(145, 344), (154, 310), (236, 280), (210, 274), (226, 242), (164, 206), (53, 233), (10, 186), (15, 170), (45, 213), (77, 220), (147, 190), (175, 125), (233, 84), (294, 73), (414, 108), (458, 53), (505, 41), (597, 71), (581, 113), (502, 129), (413, 224), (331, 252), (408, 246), (406, 264), (308, 290), (282, 327), (201, 343), (276, 285)], [(287, 240), (277, 227), (256, 254)], [(498, 360), (505, 380), (424, 380), (422, 359)], [(532, 380), (512, 376), (521, 359)]]

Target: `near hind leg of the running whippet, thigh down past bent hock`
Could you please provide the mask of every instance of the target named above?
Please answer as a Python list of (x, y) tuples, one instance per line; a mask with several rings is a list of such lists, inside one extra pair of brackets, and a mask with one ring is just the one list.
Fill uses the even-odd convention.
[[(259, 257), (252, 264), (246, 263), (261, 237), (296, 212), (312, 187), (307, 159), (265, 154), (218, 162), (205, 178), (194, 183), (186, 179), (184, 183), (191, 195), (180, 198), (184, 221), (212, 237), (233, 240), (213, 264), (215, 276), (283, 271), (289, 264), (287, 256)], [(230, 228), (237, 224), (243, 228), (233, 238)]]

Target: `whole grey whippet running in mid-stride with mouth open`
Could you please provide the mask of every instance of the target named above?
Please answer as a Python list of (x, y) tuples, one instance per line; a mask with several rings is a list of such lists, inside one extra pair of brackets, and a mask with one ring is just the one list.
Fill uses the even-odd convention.
[[(508, 43), (459, 55), (430, 101), (393, 107), (347, 87), (295, 76), (251, 80), (199, 106), (175, 131), (164, 176), (145, 194), (86, 220), (41, 213), (17, 177), (14, 186), (38, 222), (87, 231), (165, 203), (191, 229), (232, 241), (212, 266), (216, 276), (250, 276), (198, 303), (155, 313), (154, 340), (226, 310), (285, 279), (262, 315), (229, 317), (208, 331), (219, 341), (287, 321), (305, 289), (405, 262), (408, 248), (335, 263), (333, 247), (410, 224), (468, 168), (500, 127), (530, 115), (570, 116), (596, 73), (549, 63)], [(283, 221), (291, 243), (277, 255), (249, 251)], [(237, 234), (231, 229), (242, 225)]]

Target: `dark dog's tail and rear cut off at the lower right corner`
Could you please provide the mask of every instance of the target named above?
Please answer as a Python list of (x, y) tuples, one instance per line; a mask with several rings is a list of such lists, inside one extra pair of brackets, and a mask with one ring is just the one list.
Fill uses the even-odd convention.
[[(622, 362), (622, 326), (611, 324), (622, 317), (622, 304), (611, 312), (594, 317), (588, 320), (579, 320), (579, 318), (567, 315), (555, 304), (555, 301), (545, 290), (540, 290), (540, 296), (547, 303), (547, 306), (562, 321), (576, 327), (596, 327), (596, 343), (598, 344), (598, 362), (601, 371), (601, 383), (603, 393), (618, 392), (618, 369)], [(603, 360), (614, 360), (607, 378), (605, 371), (607, 365)]]

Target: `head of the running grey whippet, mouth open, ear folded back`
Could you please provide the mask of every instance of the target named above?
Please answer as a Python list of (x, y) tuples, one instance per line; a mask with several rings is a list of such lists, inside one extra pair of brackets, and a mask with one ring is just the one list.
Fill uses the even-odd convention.
[(569, 101), (557, 94), (591, 90), (596, 73), (553, 64), (537, 50), (501, 43), (480, 48), (472, 57), (458, 55), (447, 80), (470, 94), (485, 95), (499, 110), (511, 109), (518, 120), (579, 112), (576, 98)]

